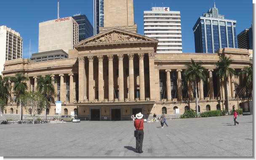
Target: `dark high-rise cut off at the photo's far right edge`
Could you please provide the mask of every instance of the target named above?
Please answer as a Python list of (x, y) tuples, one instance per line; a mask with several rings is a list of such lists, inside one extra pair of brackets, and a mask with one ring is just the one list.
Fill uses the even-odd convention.
[(253, 49), (253, 29), (252, 27), (237, 34), (238, 48)]

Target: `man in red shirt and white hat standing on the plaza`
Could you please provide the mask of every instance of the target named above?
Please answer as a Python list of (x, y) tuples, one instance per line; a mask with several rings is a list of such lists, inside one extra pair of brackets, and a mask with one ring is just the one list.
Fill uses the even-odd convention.
[(143, 153), (142, 151), (142, 144), (143, 144), (143, 138), (144, 138), (144, 119), (142, 118), (143, 114), (138, 113), (136, 114), (136, 120), (134, 120), (134, 127), (138, 131), (138, 134), (136, 136), (136, 152), (137, 153)]

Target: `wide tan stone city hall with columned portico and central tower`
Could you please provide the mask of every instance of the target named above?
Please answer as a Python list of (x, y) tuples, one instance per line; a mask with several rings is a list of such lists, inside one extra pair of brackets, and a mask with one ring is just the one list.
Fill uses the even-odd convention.
[[(56, 79), (53, 82), (56, 96), (51, 97), (46, 110), (48, 117), (56, 115), (55, 102), (61, 101), (58, 116), (74, 112), (81, 120), (126, 121), (141, 112), (149, 121), (154, 113), (157, 117), (165, 113), (169, 118), (179, 118), (187, 109), (196, 110), (194, 84), (186, 82), (183, 76), (184, 64), (191, 63), (192, 58), (203, 61), (208, 71), (206, 81), (198, 83), (199, 112), (231, 110), (233, 105), (237, 108), (244, 101), (237, 99), (236, 91), (242, 89), (244, 78), (239, 72), (252, 63), (248, 50), (220, 48), (214, 54), (157, 53), (158, 40), (137, 34), (133, 9), (129, 9), (133, 5), (125, 7), (132, 13), (110, 19), (105, 18), (108, 10), (104, 8), (104, 27), (100, 27), (100, 33), (75, 44), (68, 58), (41, 62), (28, 58), (8, 60), (3, 76), (23, 72), (29, 78), (29, 91), (36, 88), (37, 76), (50, 74)], [(224, 56), (233, 60), (231, 67), (237, 72), (228, 79), (229, 108), (225, 106), (224, 85), (215, 76), (215, 63)], [(9, 100), (3, 114), (20, 115), (19, 104)], [(23, 119), (24, 115), (29, 113), (22, 108)], [(43, 115), (44, 110), (40, 116)]]

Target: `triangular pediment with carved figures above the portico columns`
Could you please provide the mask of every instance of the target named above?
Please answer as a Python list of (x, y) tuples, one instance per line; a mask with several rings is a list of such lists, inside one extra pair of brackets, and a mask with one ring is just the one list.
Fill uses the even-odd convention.
[(147, 37), (141, 34), (137, 34), (131, 31), (123, 29), (112, 28), (104, 31), (100, 34), (96, 34), (93, 37), (89, 37), (81, 42), (78, 42), (74, 47), (82, 47), (85, 45), (98, 45), (109, 43), (123, 43), (123, 42), (143, 42), (143, 41), (155, 41), (157, 39)]

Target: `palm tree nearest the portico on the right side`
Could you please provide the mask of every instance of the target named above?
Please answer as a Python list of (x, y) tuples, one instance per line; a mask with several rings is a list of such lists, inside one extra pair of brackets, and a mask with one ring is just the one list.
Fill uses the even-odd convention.
[(185, 64), (187, 67), (184, 71), (185, 80), (192, 81), (195, 83), (195, 101), (196, 101), (196, 109), (197, 109), (197, 115), (198, 115), (198, 99), (197, 99), (197, 83), (201, 80), (205, 81), (206, 79), (206, 69), (202, 66), (203, 62), (195, 62), (191, 58), (190, 64)]

